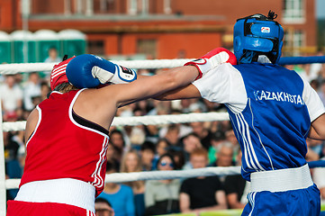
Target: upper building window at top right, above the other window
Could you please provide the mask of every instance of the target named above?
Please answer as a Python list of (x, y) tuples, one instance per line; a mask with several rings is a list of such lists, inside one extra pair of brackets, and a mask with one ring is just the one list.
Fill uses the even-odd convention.
[(284, 0), (284, 23), (304, 22), (304, 0)]

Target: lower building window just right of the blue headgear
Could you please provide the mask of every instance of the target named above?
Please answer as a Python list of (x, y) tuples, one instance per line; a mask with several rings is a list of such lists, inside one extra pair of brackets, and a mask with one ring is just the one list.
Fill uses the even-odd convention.
[(300, 56), (305, 46), (305, 35), (302, 30), (286, 31), (284, 33), (284, 50), (290, 56)]

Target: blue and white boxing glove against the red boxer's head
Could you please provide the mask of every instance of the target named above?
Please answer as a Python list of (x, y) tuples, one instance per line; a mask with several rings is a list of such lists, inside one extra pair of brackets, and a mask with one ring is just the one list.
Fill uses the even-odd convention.
[(94, 88), (106, 83), (131, 83), (137, 79), (134, 70), (90, 54), (71, 59), (66, 70), (69, 83), (78, 88)]

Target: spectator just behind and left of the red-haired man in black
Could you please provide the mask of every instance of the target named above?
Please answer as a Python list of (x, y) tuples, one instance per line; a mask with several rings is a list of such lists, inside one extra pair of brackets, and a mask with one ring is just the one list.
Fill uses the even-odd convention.
[(195, 148), (202, 148), (201, 140), (195, 133), (190, 133), (183, 139), (185, 166), (183, 169), (192, 168), (190, 155)]

